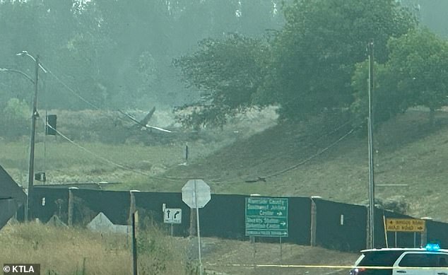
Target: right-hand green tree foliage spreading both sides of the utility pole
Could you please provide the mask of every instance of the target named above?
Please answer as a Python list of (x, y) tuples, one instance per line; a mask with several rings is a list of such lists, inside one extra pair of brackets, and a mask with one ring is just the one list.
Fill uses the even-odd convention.
[[(375, 124), (418, 105), (429, 107), (432, 124), (435, 110), (448, 103), (448, 42), (427, 29), (416, 29), (391, 37), (387, 47), (389, 60), (374, 69)], [(366, 61), (356, 65), (352, 78), (355, 101), (350, 109), (357, 123), (367, 117), (367, 81)]]

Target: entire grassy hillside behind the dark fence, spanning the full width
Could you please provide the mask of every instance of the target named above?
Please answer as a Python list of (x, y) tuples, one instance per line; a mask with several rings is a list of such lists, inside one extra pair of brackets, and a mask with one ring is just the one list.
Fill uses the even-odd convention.
[[(52, 146), (47, 143), (47, 175), (52, 182), (121, 182), (114, 189), (171, 192), (179, 192), (189, 179), (202, 178), (215, 193), (319, 195), (355, 204), (367, 201), (367, 137), (351, 132), (346, 118), (327, 114), (300, 124), (273, 124), (262, 113), (249, 118), (223, 131), (207, 131), (194, 139), (185, 137), (167, 144), (79, 141), (101, 158), (58, 137)], [(439, 112), (437, 124), (430, 127), (428, 112), (410, 110), (375, 131), (378, 200), (399, 200), (408, 205), (408, 214), (448, 221), (444, 211), (448, 206), (444, 199), (447, 122), (447, 112)], [(188, 163), (184, 163), (186, 141)], [(23, 185), (27, 142), (0, 141), (0, 164)], [(42, 143), (37, 151), (40, 170)]]

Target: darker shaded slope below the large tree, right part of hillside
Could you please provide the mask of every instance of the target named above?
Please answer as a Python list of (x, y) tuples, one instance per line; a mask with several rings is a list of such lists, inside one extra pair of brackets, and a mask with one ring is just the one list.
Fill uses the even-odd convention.
[[(444, 211), (448, 206), (444, 199), (447, 122), (448, 115), (440, 112), (437, 125), (430, 127), (425, 110), (411, 110), (377, 129), (374, 157), (379, 201), (399, 200), (408, 205), (408, 214), (448, 221)], [(203, 178), (217, 193), (319, 195), (362, 204), (368, 199), (367, 137), (349, 131), (350, 125), (338, 117), (279, 124), (203, 160), (171, 168), (165, 179), (142, 180), (136, 187), (152, 189), (148, 182), (157, 182), (152, 186), (178, 191), (185, 180)], [(254, 182), (259, 177), (266, 181)]]

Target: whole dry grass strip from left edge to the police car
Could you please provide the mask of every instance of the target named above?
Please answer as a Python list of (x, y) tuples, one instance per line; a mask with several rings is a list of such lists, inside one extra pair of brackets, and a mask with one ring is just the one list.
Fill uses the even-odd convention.
[[(125, 235), (93, 233), (81, 228), (55, 228), (41, 223), (9, 223), (0, 231), (0, 262), (41, 264), (42, 274), (132, 273), (130, 240)], [(338, 269), (237, 267), (232, 264), (353, 264), (356, 253), (320, 247), (202, 238), (206, 273), (327, 274)], [(151, 228), (138, 231), (138, 274), (197, 275), (197, 239), (167, 236)], [(337, 274), (346, 274), (346, 270)]]

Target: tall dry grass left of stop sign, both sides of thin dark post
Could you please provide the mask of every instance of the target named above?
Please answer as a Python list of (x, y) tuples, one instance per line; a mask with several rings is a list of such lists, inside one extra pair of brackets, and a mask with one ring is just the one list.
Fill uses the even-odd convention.
[[(8, 224), (0, 231), (0, 262), (41, 264), (42, 274), (131, 274), (126, 235), (54, 228), (41, 223)], [(140, 274), (184, 274), (184, 247), (158, 230), (139, 233)]]

